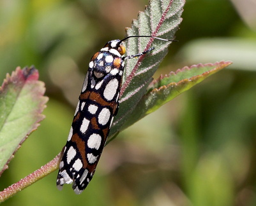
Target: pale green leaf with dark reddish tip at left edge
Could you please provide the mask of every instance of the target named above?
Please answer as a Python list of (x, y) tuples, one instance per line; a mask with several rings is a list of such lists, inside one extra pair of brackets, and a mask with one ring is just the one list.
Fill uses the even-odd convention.
[(34, 67), (6, 75), (0, 87), (0, 175), (27, 136), (36, 130), (48, 97)]

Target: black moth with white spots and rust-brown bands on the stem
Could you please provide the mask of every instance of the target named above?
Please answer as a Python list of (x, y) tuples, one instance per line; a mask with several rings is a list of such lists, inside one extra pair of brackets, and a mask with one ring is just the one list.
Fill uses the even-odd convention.
[(119, 39), (109, 41), (89, 62), (68, 141), (59, 163), (58, 189), (62, 189), (63, 184), (73, 183), (73, 190), (80, 194), (93, 177), (118, 110), (123, 60), (126, 59), (121, 57), (123, 48)]

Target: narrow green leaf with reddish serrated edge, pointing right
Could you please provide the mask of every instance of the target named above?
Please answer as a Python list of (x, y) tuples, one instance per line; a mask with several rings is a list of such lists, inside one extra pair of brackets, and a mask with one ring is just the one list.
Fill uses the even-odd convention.
[(192, 65), (191, 67), (178, 69), (176, 72), (170, 72), (169, 75), (160, 76), (160, 78), (152, 81), (149, 85), (147, 94), (142, 97), (130, 118), (121, 127), (121, 130), (129, 127), (135, 121), (152, 113), (163, 104), (177, 97), (177, 95), (197, 85), (211, 74), (220, 71), (230, 64), (232, 62)]

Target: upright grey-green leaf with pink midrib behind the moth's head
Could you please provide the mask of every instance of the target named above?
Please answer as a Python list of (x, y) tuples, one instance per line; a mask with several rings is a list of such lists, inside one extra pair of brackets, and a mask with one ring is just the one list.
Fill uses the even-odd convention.
[[(184, 0), (149, 1), (146, 10), (139, 12), (137, 20), (133, 20), (132, 28), (126, 29), (127, 36), (149, 35), (174, 39), (174, 34), (179, 29), (182, 20), (183, 6)], [(167, 54), (171, 42), (153, 38), (130, 38), (125, 43), (126, 55), (140, 53), (151, 47), (154, 47), (154, 50), (139, 58), (126, 60), (119, 112), (114, 118), (110, 137), (120, 131), (121, 125), (133, 113), (139, 100), (147, 92), (147, 86)]]

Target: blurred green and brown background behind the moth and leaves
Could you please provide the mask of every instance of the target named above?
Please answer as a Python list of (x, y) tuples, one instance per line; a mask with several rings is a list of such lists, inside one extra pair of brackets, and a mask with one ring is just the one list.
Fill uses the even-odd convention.
[[(124, 37), (144, 0), (0, 1), (0, 77), (34, 65), (50, 100), (45, 120), (0, 178), (0, 189), (63, 148), (87, 64)], [(104, 149), (81, 195), (57, 171), (2, 205), (256, 205), (256, 2), (187, 0), (158, 70), (231, 60), (230, 67), (128, 128)]]

